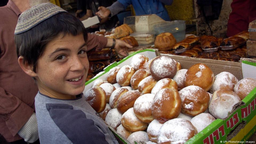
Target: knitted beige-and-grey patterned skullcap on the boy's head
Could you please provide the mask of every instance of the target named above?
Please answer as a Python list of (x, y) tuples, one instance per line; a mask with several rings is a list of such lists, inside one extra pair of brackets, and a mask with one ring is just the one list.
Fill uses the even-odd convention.
[(24, 33), (55, 14), (67, 12), (52, 3), (42, 3), (21, 13), (14, 34)]

